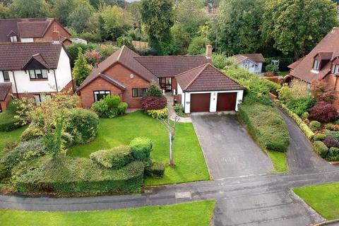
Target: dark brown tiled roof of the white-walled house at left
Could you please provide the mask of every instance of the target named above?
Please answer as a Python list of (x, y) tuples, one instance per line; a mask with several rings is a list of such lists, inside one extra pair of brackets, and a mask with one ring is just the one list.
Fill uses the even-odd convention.
[(62, 44), (52, 42), (0, 43), (0, 71), (22, 70), (32, 57), (43, 59), (49, 69), (57, 69), (61, 48)]

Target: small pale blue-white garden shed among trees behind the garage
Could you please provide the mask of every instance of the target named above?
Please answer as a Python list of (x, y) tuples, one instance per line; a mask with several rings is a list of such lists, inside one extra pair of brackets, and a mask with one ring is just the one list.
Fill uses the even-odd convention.
[(251, 73), (261, 73), (265, 58), (263, 54), (237, 54), (234, 56), (237, 66)]

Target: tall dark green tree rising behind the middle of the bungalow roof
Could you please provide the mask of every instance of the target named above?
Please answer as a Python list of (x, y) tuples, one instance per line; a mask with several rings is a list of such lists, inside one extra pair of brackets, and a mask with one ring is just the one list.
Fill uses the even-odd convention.
[(173, 0), (142, 0), (141, 19), (155, 54), (169, 54), (174, 25)]

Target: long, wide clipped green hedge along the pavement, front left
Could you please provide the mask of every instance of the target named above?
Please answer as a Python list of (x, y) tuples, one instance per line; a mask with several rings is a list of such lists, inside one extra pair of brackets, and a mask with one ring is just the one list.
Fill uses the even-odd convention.
[[(133, 192), (143, 185), (143, 162), (131, 162), (118, 170), (107, 169), (87, 158), (59, 156), (51, 160), (45, 156), (36, 161), (32, 168), (21, 172), (14, 181), (17, 192)], [(16, 173), (18, 174), (18, 173)]]

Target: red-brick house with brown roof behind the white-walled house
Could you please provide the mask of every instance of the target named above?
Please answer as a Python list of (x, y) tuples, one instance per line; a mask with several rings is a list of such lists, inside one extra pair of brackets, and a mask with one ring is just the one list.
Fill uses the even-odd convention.
[(54, 18), (0, 20), (0, 42), (54, 41), (71, 44), (71, 34)]

